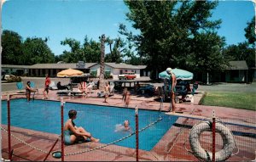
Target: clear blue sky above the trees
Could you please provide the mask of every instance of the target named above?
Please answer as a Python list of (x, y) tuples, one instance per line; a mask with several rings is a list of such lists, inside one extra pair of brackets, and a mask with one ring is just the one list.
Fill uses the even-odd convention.
[[(120, 36), (119, 23), (137, 32), (126, 20), (129, 9), (120, 0), (9, 0), (3, 3), (3, 30), (15, 31), (26, 37), (48, 37), (49, 48), (55, 55), (69, 50), (61, 45), (65, 38), (84, 42), (84, 37), (99, 41), (105, 34)], [(220, 1), (212, 10), (212, 20), (222, 20), (218, 34), (225, 36), (227, 45), (246, 41), (244, 28), (253, 19), (250, 1)], [(108, 49), (106, 49), (107, 51)]]

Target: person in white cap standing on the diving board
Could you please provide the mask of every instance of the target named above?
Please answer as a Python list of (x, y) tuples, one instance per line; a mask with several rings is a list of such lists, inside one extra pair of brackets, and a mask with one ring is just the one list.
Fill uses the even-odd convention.
[(168, 92), (170, 92), (170, 97), (172, 99), (172, 112), (175, 113), (176, 109), (176, 104), (175, 104), (175, 92), (176, 92), (176, 84), (177, 84), (177, 79), (176, 75), (172, 73), (172, 68), (167, 68), (166, 73), (169, 75), (169, 78), (167, 79), (168, 81)]

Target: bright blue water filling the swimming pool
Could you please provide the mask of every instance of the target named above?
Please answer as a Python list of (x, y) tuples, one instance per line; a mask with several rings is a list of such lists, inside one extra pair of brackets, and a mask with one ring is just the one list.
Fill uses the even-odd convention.
[[(55, 101), (35, 100), (30, 103), (26, 99), (13, 99), (10, 101), (11, 126), (61, 134), (61, 103)], [(129, 120), (131, 129), (135, 131), (135, 111), (134, 109), (124, 109), (108, 106), (97, 106), (81, 103), (65, 103), (64, 122), (68, 119), (68, 111), (76, 109), (77, 119), (74, 120), (77, 126), (83, 126), (86, 131), (92, 133), (94, 137), (100, 138), (102, 143), (113, 142), (121, 137), (129, 135), (129, 132), (115, 131), (117, 124), (122, 124), (124, 120)], [(139, 129), (159, 119), (163, 118), (155, 125), (148, 127), (139, 133), (139, 148), (151, 150), (160, 138), (175, 123), (177, 117), (165, 115), (158, 111), (139, 110)], [(2, 124), (7, 124), (7, 102), (2, 101)], [(115, 143), (119, 146), (135, 148), (135, 135)]]

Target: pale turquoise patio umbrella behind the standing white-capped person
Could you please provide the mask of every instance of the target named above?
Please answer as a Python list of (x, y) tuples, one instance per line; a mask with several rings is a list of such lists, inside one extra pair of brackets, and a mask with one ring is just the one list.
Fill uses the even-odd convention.
[[(192, 80), (193, 79), (193, 73), (187, 71), (187, 70), (181, 70), (181, 69), (173, 69), (172, 73), (176, 75), (177, 80)], [(170, 75), (167, 74), (166, 70), (160, 72), (159, 78), (161, 79), (170, 79)]]

